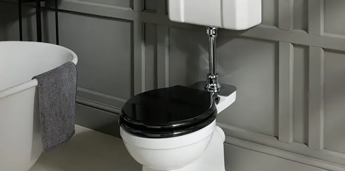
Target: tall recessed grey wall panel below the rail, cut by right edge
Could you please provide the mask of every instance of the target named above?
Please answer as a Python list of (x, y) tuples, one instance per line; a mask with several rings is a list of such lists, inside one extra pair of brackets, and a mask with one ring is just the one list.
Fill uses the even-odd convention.
[(345, 153), (345, 53), (324, 56), (324, 147)]

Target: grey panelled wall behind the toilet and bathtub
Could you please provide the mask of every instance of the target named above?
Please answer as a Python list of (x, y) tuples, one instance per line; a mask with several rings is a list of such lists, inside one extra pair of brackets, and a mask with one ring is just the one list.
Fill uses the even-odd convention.
[[(17, 40), (16, 4), (0, 1), (0, 39)], [(165, 1), (62, 0), (59, 8), (61, 45), (80, 59), (80, 123), (118, 136), (106, 127), (116, 129), (131, 96), (205, 79), (205, 28), (170, 22)], [(238, 88), (218, 117), (226, 143), (345, 170), (345, 2), (262, 0), (262, 10), (261, 25), (221, 29), (217, 39), (221, 82)], [(33, 12), (24, 8), (25, 40), (35, 40)], [(44, 40), (54, 43), (53, 13), (43, 13)]]

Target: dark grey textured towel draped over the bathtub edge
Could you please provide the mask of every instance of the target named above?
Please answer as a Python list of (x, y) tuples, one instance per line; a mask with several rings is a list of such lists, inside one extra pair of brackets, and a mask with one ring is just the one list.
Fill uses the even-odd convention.
[(53, 148), (68, 141), (75, 131), (76, 67), (66, 62), (32, 79), (38, 81), (43, 147)]

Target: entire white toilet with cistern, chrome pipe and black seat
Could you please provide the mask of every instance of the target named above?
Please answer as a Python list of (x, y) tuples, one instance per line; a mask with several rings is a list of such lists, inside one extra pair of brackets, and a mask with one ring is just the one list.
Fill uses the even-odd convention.
[(120, 135), (143, 171), (225, 171), (225, 134), (217, 115), (236, 99), (236, 87), (219, 82), (217, 29), (245, 30), (261, 23), (261, 0), (168, 0), (169, 19), (206, 26), (206, 81), (140, 93), (119, 116)]

